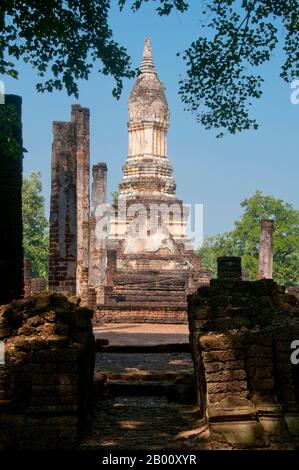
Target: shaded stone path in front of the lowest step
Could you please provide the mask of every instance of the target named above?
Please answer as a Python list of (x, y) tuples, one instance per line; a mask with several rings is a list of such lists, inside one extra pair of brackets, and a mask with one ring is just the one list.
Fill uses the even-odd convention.
[(81, 449), (209, 448), (209, 434), (199, 426), (195, 406), (165, 397), (119, 396), (97, 401)]

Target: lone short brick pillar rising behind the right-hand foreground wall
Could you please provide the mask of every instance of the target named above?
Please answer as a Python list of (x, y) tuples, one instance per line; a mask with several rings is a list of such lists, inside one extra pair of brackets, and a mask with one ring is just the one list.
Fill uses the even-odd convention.
[(273, 276), (273, 230), (273, 220), (261, 220), (258, 279), (272, 279)]

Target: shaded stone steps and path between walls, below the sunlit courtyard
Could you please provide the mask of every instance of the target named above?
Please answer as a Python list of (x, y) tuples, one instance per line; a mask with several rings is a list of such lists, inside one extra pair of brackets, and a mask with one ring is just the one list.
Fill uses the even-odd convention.
[(104, 347), (97, 353), (93, 413), (80, 448), (210, 448), (195, 404), (190, 353), (175, 345), (133, 351)]

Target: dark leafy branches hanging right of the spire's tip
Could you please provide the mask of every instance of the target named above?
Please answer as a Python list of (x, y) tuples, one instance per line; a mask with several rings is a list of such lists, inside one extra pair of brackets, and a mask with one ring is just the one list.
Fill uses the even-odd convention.
[[(136, 11), (148, 1), (132, 1), (131, 8)], [(160, 0), (157, 12), (184, 12), (190, 3)], [(299, 2), (202, 0), (201, 5), (199, 37), (183, 53), (187, 72), (180, 80), (181, 99), (206, 129), (222, 129), (218, 137), (225, 130), (257, 129), (250, 107), (263, 94), (259, 67), (279, 44), (285, 54), (280, 76), (286, 82), (299, 76)]]

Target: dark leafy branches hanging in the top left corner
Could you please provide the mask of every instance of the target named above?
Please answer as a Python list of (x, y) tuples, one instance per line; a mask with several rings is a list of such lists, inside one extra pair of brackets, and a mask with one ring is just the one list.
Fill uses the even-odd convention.
[[(119, 97), (122, 79), (132, 77), (130, 58), (108, 24), (110, 0), (2, 0), (0, 73), (18, 77), (13, 59), (22, 58), (43, 79), (38, 91), (61, 90), (78, 96), (78, 79), (93, 65), (112, 75)], [(7, 60), (5, 54), (11, 58)]]

